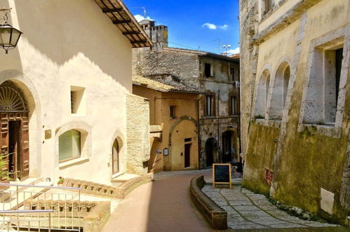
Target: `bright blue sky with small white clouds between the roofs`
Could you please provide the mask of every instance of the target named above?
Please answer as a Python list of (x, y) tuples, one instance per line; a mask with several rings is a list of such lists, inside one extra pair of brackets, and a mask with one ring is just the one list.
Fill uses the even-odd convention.
[[(219, 41), (238, 48), (238, 0), (123, 0), (133, 15), (142, 15), (169, 27), (169, 46), (217, 53)], [(139, 18), (138, 16), (137, 18)], [(183, 46), (180, 46), (180, 45)], [(222, 49), (220, 52), (223, 52)], [(236, 49), (237, 51), (237, 49)]]

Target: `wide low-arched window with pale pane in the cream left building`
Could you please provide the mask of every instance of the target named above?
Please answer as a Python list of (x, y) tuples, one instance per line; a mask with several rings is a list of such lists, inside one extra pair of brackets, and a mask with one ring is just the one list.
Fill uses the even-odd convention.
[(59, 160), (72, 160), (81, 155), (81, 133), (71, 129), (58, 138)]

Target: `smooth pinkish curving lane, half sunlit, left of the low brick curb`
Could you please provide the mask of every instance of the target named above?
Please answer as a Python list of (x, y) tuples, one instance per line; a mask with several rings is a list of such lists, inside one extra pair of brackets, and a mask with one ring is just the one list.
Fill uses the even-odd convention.
[(189, 197), (189, 181), (198, 174), (211, 172), (156, 175), (156, 181), (136, 188), (119, 203), (102, 231), (211, 231)]

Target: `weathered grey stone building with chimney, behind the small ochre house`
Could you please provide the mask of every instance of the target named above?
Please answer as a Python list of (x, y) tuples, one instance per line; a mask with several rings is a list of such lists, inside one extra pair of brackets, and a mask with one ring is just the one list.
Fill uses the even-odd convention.
[(149, 20), (141, 25), (156, 48), (133, 49), (133, 75), (203, 91), (197, 104), (199, 168), (240, 160), (239, 60), (169, 48), (168, 27)]

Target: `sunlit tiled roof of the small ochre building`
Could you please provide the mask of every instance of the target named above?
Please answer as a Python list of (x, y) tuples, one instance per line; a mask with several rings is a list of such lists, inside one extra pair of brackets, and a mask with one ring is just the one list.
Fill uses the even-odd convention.
[(193, 86), (187, 86), (181, 82), (171, 82), (163, 78), (147, 78), (133, 76), (133, 84), (144, 86), (149, 89), (154, 89), (161, 92), (182, 92), (188, 94), (204, 94), (204, 91), (196, 89)]

